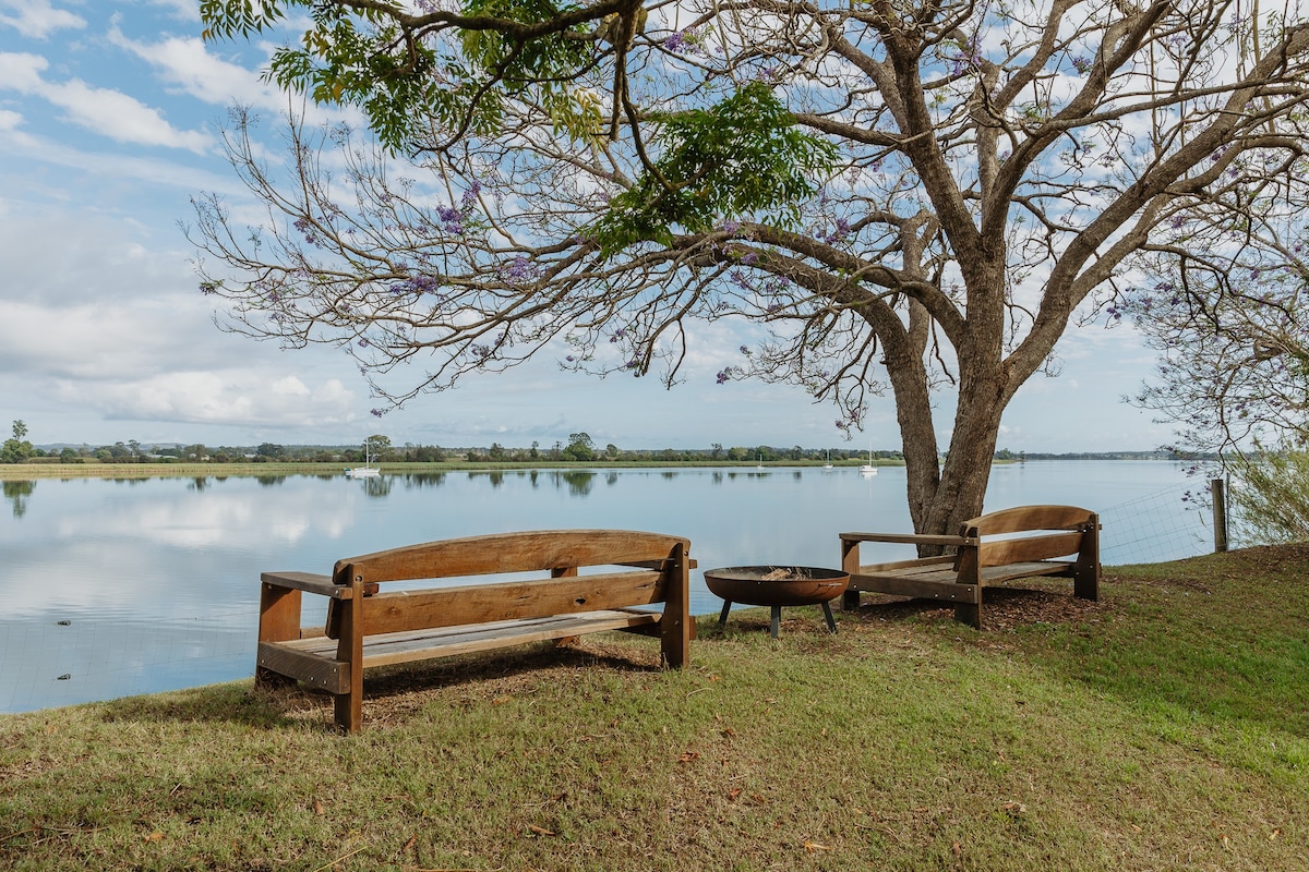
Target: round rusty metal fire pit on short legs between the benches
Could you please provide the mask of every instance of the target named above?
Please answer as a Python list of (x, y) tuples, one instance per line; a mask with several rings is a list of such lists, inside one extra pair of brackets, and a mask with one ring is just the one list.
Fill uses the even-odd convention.
[(719, 626), (726, 624), (733, 603), (768, 605), (772, 608), (768, 624), (772, 638), (778, 638), (783, 605), (821, 604), (827, 629), (835, 633), (836, 621), (831, 617), (829, 603), (840, 596), (848, 583), (850, 573), (816, 566), (728, 566), (704, 570), (704, 584), (724, 600)]

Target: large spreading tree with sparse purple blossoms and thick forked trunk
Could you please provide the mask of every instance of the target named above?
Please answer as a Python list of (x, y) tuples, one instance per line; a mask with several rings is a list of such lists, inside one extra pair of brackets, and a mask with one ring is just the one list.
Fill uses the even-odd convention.
[(267, 220), (207, 197), (192, 230), (234, 329), (343, 344), (403, 401), (552, 340), (672, 383), (696, 322), (745, 319), (766, 339), (720, 380), (802, 384), (846, 428), (893, 394), (922, 532), (980, 511), (1009, 400), (1161, 230), (1247, 210), (1234, 171), (1304, 175), (1295, 3), (202, 8), (221, 37), (297, 5), (272, 75), (381, 148), (293, 123), (279, 178), (236, 114)]

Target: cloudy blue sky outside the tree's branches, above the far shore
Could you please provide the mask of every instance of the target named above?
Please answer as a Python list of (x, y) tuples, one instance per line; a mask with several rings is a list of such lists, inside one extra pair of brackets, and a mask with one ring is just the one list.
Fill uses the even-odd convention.
[[(191, 197), (240, 201), (219, 129), (234, 103), (302, 109), (260, 81), (270, 42), (206, 44), (196, 0), (0, 0), (0, 438), (35, 444), (554, 444), (585, 431), (620, 448), (899, 448), (890, 396), (846, 442), (802, 390), (719, 384), (716, 366), (665, 391), (538, 360), (467, 378), (376, 418), (344, 353), (281, 350), (220, 331), (182, 226)], [(292, 101), (292, 102), (288, 102)], [(313, 112), (310, 107), (310, 112)], [(726, 341), (719, 327), (692, 341)], [(1149, 450), (1168, 425), (1122, 401), (1153, 353), (1131, 328), (1089, 326), (1009, 405), (1001, 448)], [(949, 441), (950, 403), (937, 421)]]

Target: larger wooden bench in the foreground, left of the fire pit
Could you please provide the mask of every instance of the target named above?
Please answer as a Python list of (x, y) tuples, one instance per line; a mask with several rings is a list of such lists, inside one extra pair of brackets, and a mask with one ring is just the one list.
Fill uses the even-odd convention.
[[(692, 624), (690, 543), (675, 536), (564, 529), (474, 536), (336, 561), (331, 575), (263, 573), (255, 684), (335, 694), (336, 726), (363, 726), (364, 669), (583, 633), (660, 638), (682, 667)], [(579, 574), (580, 567), (603, 567)], [(611, 571), (613, 567), (624, 567)], [(389, 582), (541, 573), (548, 578), (382, 590)], [(301, 594), (327, 597), (323, 629), (301, 629)], [(649, 607), (662, 603), (662, 612)]]

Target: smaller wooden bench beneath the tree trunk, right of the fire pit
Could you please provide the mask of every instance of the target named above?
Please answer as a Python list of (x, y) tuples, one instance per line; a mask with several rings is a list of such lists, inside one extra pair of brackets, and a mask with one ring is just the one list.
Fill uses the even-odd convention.
[[(953, 553), (863, 565), (861, 543), (942, 545)], [(1072, 578), (1076, 596), (1100, 599), (1100, 518), (1075, 506), (1020, 506), (967, 520), (958, 536), (842, 533), (840, 565), (850, 573), (847, 609), (859, 608), (860, 591), (936, 599), (954, 605), (956, 620), (982, 629), (982, 591), (990, 584), (1054, 575)]]

